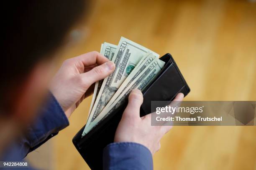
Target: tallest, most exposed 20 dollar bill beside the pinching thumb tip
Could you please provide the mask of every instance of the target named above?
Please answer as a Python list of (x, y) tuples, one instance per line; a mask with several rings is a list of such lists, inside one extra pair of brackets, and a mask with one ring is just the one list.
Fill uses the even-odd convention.
[(118, 87), (131, 73), (146, 52), (150, 51), (155, 56), (159, 57), (155, 52), (124, 37), (121, 37), (117, 49), (118, 50), (116, 50), (112, 59), (116, 65), (116, 69), (104, 79), (102, 88), (100, 89), (92, 108), (92, 116), (89, 117), (87, 121), (87, 126), (100, 114), (100, 111), (107, 105)]

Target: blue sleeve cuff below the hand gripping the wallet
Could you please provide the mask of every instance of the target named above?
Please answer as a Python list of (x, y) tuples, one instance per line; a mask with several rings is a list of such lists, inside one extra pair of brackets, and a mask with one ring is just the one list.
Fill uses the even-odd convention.
[(104, 170), (153, 170), (151, 152), (139, 143), (110, 143), (103, 151)]

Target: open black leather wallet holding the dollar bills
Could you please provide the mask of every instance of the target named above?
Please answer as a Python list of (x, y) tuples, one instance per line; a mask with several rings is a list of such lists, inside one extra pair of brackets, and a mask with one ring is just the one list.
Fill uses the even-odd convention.
[[(172, 55), (167, 53), (160, 60), (165, 62), (164, 68), (154, 82), (142, 92), (141, 116), (151, 113), (151, 101), (172, 101), (179, 92), (182, 92), (184, 96), (190, 92), (189, 86)], [(73, 143), (75, 147), (92, 170), (102, 169), (103, 149), (108, 144), (113, 143), (115, 130), (126, 105), (127, 102), (102, 120), (84, 137), (82, 137), (84, 127), (74, 136)]]

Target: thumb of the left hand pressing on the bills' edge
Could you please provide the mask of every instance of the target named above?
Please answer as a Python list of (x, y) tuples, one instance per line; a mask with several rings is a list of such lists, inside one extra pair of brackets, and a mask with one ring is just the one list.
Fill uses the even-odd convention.
[(83, 86), (88, 89), (93, 83), (108, 77), (115, 70), (115, 64), (111, 61), (94, 67), (88, 72), (80, 74)]

